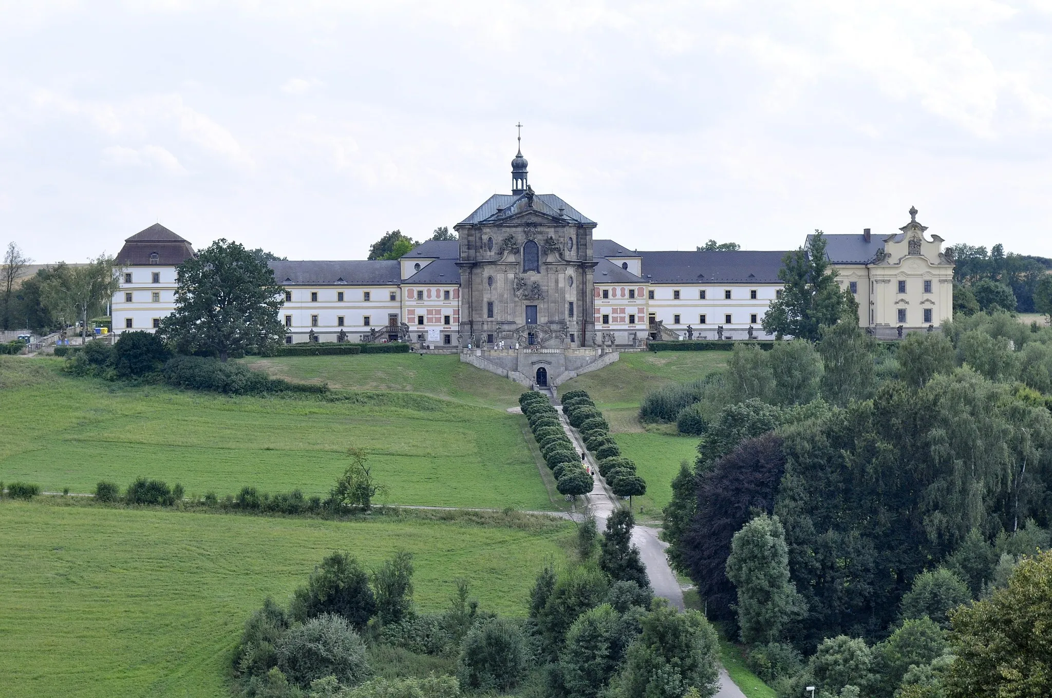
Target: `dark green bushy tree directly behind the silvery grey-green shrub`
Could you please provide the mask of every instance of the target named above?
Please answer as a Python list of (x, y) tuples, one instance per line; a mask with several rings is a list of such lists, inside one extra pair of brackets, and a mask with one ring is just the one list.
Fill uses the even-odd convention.
[(333, 613), (355, 628), (364, 629), (376, 610), (369, 575), (353, 557), (336, 552), (315, 568), (306, 587), (294, 592), (288, 612), (300, 622), (323, 613)]

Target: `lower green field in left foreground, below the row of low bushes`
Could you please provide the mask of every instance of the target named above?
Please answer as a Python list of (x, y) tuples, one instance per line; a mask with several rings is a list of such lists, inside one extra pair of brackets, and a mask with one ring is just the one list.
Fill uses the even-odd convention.
[(230, 653), (267, 595), (285, 602), (333, 550), (414, 556), (421, 610), (465, 577), (525, 615), (534, 571), (572, 525), (531, 532), (419, 518), (347, 522), (170, 510), (0, 505), (0, 696), (228, 696)]

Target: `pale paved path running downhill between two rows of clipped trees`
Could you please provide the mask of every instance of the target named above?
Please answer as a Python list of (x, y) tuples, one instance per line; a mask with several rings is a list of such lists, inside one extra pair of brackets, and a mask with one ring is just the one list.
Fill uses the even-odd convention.
[[(585, 449), (576, 430), (570, 427), (569, 422), (566, 420), (566, 415), (563, 414), (562, 408), (558, 409), (563, 430), (570, 437), (570, 440), (573, 442), (573, 446), (578, 449), (578, 452), (585, 453), (585, 458), (588, 465), (591, 466), (592, 491), (585, 496), (588, 500), (588, 507), (592, 514), (594, 514), (596, 524), (602, 531), (606, 528), (607, 517), (613, 513), (614, 509), (619, 509), (621, 505), (618, 502), (614, 494), (610, 492), (606, 480), (599, 474), (599, 464), (595, 463), (592, 454)], [(650, 587), (654, 590), (654, 594), (662, 598), (667, 598), (672, 605), (683, 610), (685, 608), (683, 603), (683, 589), (680, 587), (680, 580), (676, 579), (675, 573), (668, 566), (668, 558), (665, 556), (665, 548), (668, 543), (658, 538), (658, 529), (636, 526), (632, 529), (632, 542), (640, 549), (640, 557), (643, 558), (643, 563), (647, 566), (647, 576), (650, 577)], [(723, 666), (720, 668), (720, 690), (716, 692), (715, 698), (746, 698), (742, 690), (730, 680), (727, 670)]]

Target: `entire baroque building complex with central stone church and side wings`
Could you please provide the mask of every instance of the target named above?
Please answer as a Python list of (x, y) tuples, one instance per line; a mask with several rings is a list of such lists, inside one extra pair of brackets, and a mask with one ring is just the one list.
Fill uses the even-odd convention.
[[(648, 340), (772, 338), (761, 322), (782, 293), (786, 251), (631, 250), (595, 239), (598, 223), (558, 196), (535, 193), (527, 168), (520, 149), (510, 193), (458, 223), (456, 241), (394, 261), (271, 262), (285, 288), (285, 341), (471, 348), (473, 363), (534, 379), (534, 363), (566, 375)], [(952, 315), (953, 262), (910, 215), (884, 237), (827, 235), (859, 324), (878, 335), (937, 328)], [(155, 329), (174, 309), (178, 265), (193, 254), (160, 224), (128, 238), (117, 255), (114, 331)], [(524, 366), (522, 352), (550, 356)]]

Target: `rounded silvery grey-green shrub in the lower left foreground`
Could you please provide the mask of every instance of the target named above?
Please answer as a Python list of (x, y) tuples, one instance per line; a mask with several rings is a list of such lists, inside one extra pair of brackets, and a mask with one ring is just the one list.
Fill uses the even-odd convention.
[(326, 676), (351, 684), (371, 673), (362, 638), (345, 618), (332, 613), (289, 629), (278, 644), (277, 655), (278, 669), (304, 689)]

